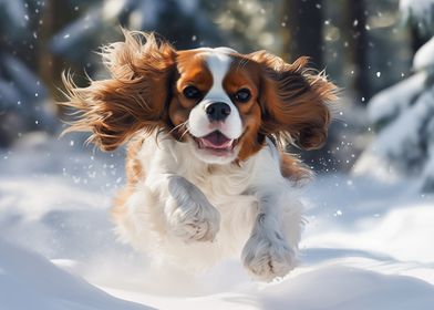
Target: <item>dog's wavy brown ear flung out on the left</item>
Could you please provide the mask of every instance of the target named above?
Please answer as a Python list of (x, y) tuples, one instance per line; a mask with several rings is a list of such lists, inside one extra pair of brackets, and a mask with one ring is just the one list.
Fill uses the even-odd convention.
[(125, 41), (102, 49), (111, 78), (78, 87), (70, 74), (62, 75), (68, 102), (78, 118), (65, 132), (93, 134), (89, 141), (113, 151), (138, 131), (167, 126), (176, 51), (153, 33), (123, 30)]

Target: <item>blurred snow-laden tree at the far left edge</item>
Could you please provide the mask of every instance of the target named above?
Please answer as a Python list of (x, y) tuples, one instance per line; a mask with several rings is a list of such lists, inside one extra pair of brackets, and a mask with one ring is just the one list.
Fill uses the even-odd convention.
[(24, 132), (53, 127), (46, 87), (30, 65), (38, 39), (32, 27), (42, 10), (40, 1), (0, 0), (0, 147)]

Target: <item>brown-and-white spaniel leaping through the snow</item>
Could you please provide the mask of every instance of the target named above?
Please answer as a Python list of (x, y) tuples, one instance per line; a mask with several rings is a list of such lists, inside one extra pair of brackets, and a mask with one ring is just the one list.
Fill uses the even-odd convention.
[(63, 74), (63, 104), (79, 115), (66, 131), (92, 132), (103, 151), (128, 143), (112, 211), (120, 238), (184, 268), (240, 256), (255, 279), (286, 276), (302, 228), (297, 187), (311, 174), (285, 145), (323, 145), (335, 85), (307, 58), (177, 51), (123, 33), (102, 49), (108, 79), (79, 87)]

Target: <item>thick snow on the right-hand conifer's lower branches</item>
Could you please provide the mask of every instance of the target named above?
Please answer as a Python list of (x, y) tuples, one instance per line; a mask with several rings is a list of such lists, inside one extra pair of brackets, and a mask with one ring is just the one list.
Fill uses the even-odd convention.
[[(417, 73), (372, 99), (371, 120), (384, 128), (353, 166), (354, 175), (394, 182), (405, 174), (431, 172), (431, 154), (423, 145), (430, 144), (432, 136), (428, 123), (434, 114), (434, 87), (422, 87), (424, 76)], [(421, 183), (420, 189), (426, 186), (426, 180)]]

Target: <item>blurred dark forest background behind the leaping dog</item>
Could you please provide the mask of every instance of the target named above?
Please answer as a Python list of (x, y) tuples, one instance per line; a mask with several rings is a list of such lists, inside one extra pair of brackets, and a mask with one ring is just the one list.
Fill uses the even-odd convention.
[[(342, 91), (329, 144), (301, 155), (318, 172), (349, 172), (376, 133), (428, 87), (424, 73), (418, 89), (413, 87), (401, 105), (394, 100), (389, 107), (375, 105), (375, 94), (415, 74), (414, 55), (433, 34), (432, 2), (0, 0), (0, 147), (11, 147), (28, 132), (59, 135), (63, 126), (59, 120), (65, 117), (55, 105), (63, 99), (61, 72), (71, 69), (80, 85), (86, 84), (86, 74), (104, 76), (96, 52), (122, 40), (123, 25), (156, 31), (178, 49), (228, 45), (242, 53), (266, 49), (288, 62), (309, 55), (312, 66), (326, 69)], [(428, 72), (423, 65), (418, 69)], [(372, 113), (378, 105), (383, 112)], [(432, 110), (421, 113), (426, 116)], [(434, 126), (427, 123), (414, 130), (421, 133), (422, 126), (430, 133), (426, 128)], [(427, 135), (415, 142), (420, 152), (413, 157), (390, 149), (383, 155), (391, 162), (410, 156), (403, 170), (424, 170), (434, 153), (428, 140)]]

